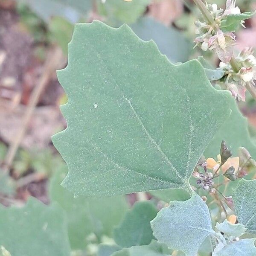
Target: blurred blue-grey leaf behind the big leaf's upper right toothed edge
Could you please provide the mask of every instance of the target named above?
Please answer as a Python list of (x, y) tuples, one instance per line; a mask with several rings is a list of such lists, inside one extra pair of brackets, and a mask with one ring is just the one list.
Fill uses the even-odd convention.
[(162, 54), (165, 54), (173, 63), (184, 62), (189, 59), (192, 44), (182, 32), (174, 27), (164, 26), (150, 17), (142, 17), (131, 25), (132, 30), (141, 39), (154, 40)]

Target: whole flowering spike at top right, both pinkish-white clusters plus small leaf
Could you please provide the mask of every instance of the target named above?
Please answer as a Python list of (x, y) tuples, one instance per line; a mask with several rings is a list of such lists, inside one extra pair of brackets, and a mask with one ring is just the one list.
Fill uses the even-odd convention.
[[(203, 51), (213, 50), (221, 60), (219, 70), (224, 76), (216, 81), (223, 90), (230, 90), (237, 100), (245, 101), (245, 92), (255, 86), (256, 58), (253, 50), (245, 48), (234, 56), (236, 35), (233, 33), (237, 26), (244, 26), (244, 20), (254, 13), (242, 13), (236, 0), (227, 0), (226, 9), (218, 9), (216, 4), (206, 4), (204, 21), (196, 21), (195, 47)], [(253, 88), (254, 89), (254, 88)]]

